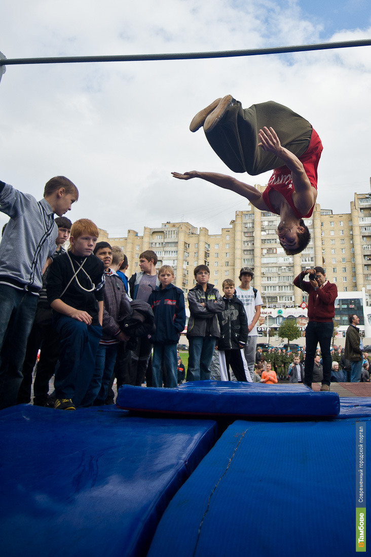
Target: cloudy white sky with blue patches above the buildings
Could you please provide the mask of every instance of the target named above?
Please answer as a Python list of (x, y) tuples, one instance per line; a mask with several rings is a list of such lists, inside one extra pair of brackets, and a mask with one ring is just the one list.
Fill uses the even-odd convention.
[[(371, 37), (368, 0), (13, 0), (2, 4), (7, 58), (237, 50)], [(8, 66), (0, 83), (0, 179), (42, 197), (57, 174), (78, 186), (71, 220), (110, 236), (189, 221), (210, 233), (247, 201), (177, 170), (231, 174), (194, 114), (232, 94), (281, 102), (308, 119), (324, 151), (322, 208), (349, 212), (370, 191), (371, 47), (153, 62)], [(265, 184), (269, 174), (249, 177)], [(1, 214), (0, 224), (7, 221)]]

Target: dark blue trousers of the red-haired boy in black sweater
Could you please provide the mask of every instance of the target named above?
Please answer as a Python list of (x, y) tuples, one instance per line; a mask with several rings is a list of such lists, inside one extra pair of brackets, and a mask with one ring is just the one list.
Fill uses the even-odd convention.
[(93, 378), (102, 327), (86, 325), (62, 314), (54, 314), (54, 326), (61, 339), (55, 396), (70, 398), (75, 406), (80, 406)]

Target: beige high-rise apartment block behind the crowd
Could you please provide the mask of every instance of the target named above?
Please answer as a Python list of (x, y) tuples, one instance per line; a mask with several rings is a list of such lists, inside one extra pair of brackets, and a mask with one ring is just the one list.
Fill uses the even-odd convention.
[[(256, 185), (260, 191), (265, 186)], [(306, 224), (311, 231), (307, 248), (294, 257), (283, 251), (276, 234), (280, 217), (248, 206), (236, 211), (229, 227), (218, 234), (207, 228), (197, 228), (189, 222), (166, 222), (158, 228), (144, 227), (143, 234), (128, 230), (127, 236), (112, 238), (100, 231), (100, 240), (122, 246), (128, 257), (127, 276), (139, 271), (139, 255), (153, 250), (159, 267), (171, 265), (175, 284), (187, 294), (194, 286), (194, 267), (210, 267), (210, 282), (221, 291), (225, 278), (239, 284), (241, 267), (252, 267), (255, 286), (262, 294), (264, 306), (293, 308), (307, 301), (307, 296), (295, 288), (293, 278), (306, 267), (319, 265), (335, 282), (339, 292), (365, 289), (368, 305), (371, 291), (371, 193), (355, 194), (350, 212), (333, 214), (331, 209), (314, 207)]]

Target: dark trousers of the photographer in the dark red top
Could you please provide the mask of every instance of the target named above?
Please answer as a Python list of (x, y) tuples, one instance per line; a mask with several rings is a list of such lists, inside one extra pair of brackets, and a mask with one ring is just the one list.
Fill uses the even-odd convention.
[(333, 338), (333, 332), (333, 321), (326, 321), (326, 323), (309, 321), (309, 323), (307, 324), (305, 330), (306, 356), (304, 364), (304, 383), (306, 385), (312, 384), (314, 357), (316, 354), (318, 343), (320, 343), (322, 366), (324, 368), (324, 378), (322, 380), (322, 385), (330, 385), (331, 367), (333, 365), (330, 345), (331, 339)]

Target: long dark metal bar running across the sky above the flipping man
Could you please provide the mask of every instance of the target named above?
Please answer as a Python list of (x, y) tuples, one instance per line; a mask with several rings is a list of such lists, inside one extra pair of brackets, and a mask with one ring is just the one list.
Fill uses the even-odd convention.
[(232, 58), (237, 56), (261, 56), (263, 54), (282, 54), (287, 52), (306, 52), (371, 46), (371, 39), (359, 41), (324, 42), (317, 45), (278, 46), (272, 48), (250, 48), (248, 50), (225, 50), (216, 52), (179, 52), (173, 54), (136, 54), (116, 56), (60, 56), (45, 58), (0, 58), (0, 66), (20, 64), (60, 64), (75, 62), (138, 62), (151, 60), (194, 60), (196, 58)]

